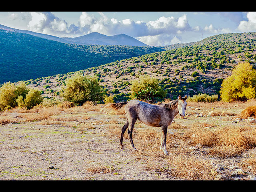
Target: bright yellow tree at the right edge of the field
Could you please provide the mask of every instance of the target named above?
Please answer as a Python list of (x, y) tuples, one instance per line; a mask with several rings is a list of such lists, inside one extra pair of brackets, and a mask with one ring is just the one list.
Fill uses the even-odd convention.
[(256, 98), (256, 70), (248, 62), (239, 63), (223, 80), (220, 97), (224, 102)]

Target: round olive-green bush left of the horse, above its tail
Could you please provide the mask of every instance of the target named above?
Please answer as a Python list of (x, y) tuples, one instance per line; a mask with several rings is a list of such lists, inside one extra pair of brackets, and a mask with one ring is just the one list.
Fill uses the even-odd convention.
[(66, 81), (62, 97), (70, 102), (84, 104), (87, 101), (100, 101), (103, 92), (97, 77), (86, 77), (78, 73)]

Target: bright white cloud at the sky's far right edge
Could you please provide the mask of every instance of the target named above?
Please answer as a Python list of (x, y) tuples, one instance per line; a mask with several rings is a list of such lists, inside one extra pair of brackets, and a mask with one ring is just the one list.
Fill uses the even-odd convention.
[(256, 12), (248, 12), (246, 17), (248, 21), (240, 21), (238, 30), (241, 32), (251, 32), (256, 30)]

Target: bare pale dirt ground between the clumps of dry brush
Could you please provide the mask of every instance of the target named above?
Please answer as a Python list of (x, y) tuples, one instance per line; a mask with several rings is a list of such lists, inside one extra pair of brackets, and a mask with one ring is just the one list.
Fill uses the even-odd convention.
[[(204, 111), (200, 105), (188, 108), (187, 119), (175, 118), (175, 122), (181, 125), (189, 125), (195, 121), (198, 124), (207, 121), (214, 121), (223, 126), (231, 124), (231, 120), (223, 117), (222, 120), (206, 115), (195, 117), (194, 114), (200, 111), (195, 110), (196, 107), (199, 107), (204, 114), (209, 110)], [(224, 110), (232, 113), (241, 111), (242, 107)], [(216, 108), (215, 110), (223, 110)], [(6, 123), (0, 126), (0, 180), (186, 180), (171, 176), (168, 172), (148, 169), (148, 157), (138, 158), (137, 152), (130, 148), (128, 139), (124, 139), (125, 149), (121, 150), (119, 135), (114, 138), (107, 136), (107, 127), (111, 126), (112, 121), (122, 127), (125, 122), (122, 115), (105, 117), (98, 111), (88, 111), (86, 115), (90, 118), (83, 120), (84, 111), (63, 110), (56, 117), (62, 117), (63, 121), (70, 117), (74, 120), (69, 120), (66, 124), (60, 121), (59, 124), (54, 124), (54, 121), (53, 123), (51, 121), (42, 123), (43, 121), (40, 120), (24, 121), (24, 118), (20, 117), (21, 114), (18, 112), (4, 114), (6, 118), (16, 119), (18, 123)], [(234, 119), (236, 116), (230, 118)], [(80, 125), (86, 121), (91, 126), (81, 128)], [(241, 125), (234, 124), (234, 126)], [(168, 128), (168, 132), (175, 131)], [(134, 144), (136, 146), (136, 140)], [(208, 159), (212, 160), (212, 164), (217, 167), (220, 174), (230, 176), (232, 172), (242, 168), (242, 160), (252, 153), (255, 153), (255, 149), (248, 150), (235, 158), (208, 157)], [(155, 161), (162, 163), (159, 159)], [(252, 177), (253, 173), (247, 171), (246, 174), (236, 174), (230, 180), (249, 180)]]

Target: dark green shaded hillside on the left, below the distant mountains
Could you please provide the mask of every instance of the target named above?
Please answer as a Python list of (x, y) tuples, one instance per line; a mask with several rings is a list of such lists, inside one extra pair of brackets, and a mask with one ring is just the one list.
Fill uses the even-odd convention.
[(151, 46), (65, 44), (0, 30), (0, 84), (84, 70), (161, 50)]

